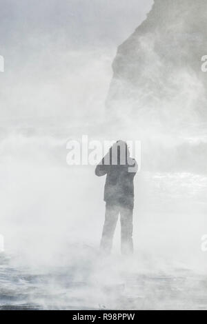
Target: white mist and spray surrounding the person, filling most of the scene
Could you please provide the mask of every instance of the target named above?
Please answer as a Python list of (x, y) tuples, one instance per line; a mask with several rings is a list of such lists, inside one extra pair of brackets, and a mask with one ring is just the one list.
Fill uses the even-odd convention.
[[(118, 113), (106, 109), (117, 46), (151, 7), (141, 0), (1, 0), (2, 309), (169, 309), (193, 290), (204, 295), (197, 275), (206, 271), (206, 133), (199, 121), (178, 127), (183, 114), (192, 119), (201, 88), (193, 88), (190, 110), (176, 115), (189, 93), (184, 78), (197, 84), (176, 79), (181, 97), (163, 104), (178, 122), (160, 119), (149, 101), (139, 102), (137, 119), (123, 103)], [(141, 141), (129, 259), (120, 254), (119, 224), (112, 255), (99, 256), (105, 178), (95, 166), (66, 163), (67, 142), (83, 134)]]

